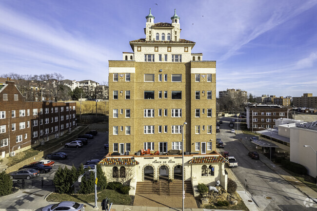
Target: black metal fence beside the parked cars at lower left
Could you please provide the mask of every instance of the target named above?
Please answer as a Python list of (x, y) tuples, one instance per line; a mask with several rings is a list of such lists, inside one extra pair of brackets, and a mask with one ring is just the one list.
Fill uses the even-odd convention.
[(14, 179), (13, 187), (20, 189), (55, 189), (54, 176), (34, 179)]

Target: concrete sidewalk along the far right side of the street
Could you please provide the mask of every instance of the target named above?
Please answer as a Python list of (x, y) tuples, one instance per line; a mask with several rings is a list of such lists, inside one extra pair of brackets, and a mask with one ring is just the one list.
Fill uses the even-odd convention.
[[(247, 137), (247, 140), (245, 141), (245, 137)], [(240, 141), (240, 138), (242, 138), (242, 141), (240, 141), (245, 148), (247, 148), (250, 152), (257, 151), (256, 144), (251, 143), (250, 137), (253, 137), (253, 135), (249, 134), (243, 134), (240, 130), (236, 131), (236, 138)], [(265, 139), (265, 138), (262, 138)], [(300, 192), (304, 193), (311, 199), (313, 199), (317, 203), (317, 192), (315, 192), (313, 189), (306, 186), (304, 183), (296, 179), (291, 174), (284, 171), (279, 166), (275, 165), (272, 161), (270, 161), (269, 158), (266, 156), (261, 156), (260, 161), (264, 163), (267, 167), (269, 167), (273, 172), (277, 173), (279, 176), (281, 176), (283, 179), (288, 181), (291, 185), (293, 185), (295, 188), (297, 188)]]

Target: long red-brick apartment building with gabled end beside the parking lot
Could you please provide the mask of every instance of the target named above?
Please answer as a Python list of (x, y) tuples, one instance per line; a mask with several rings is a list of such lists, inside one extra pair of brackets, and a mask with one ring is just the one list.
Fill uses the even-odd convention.
[(0, 156), (14, 155), (76, 127), (76, 103), (26, 102), (9, 79), (0, 85)]

